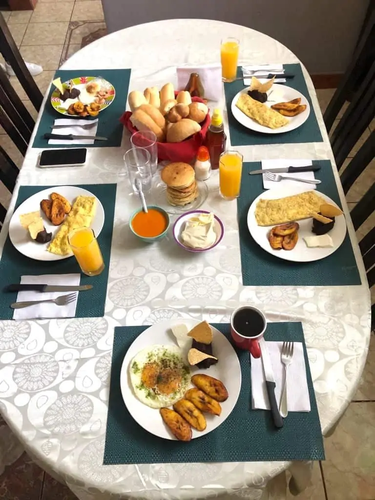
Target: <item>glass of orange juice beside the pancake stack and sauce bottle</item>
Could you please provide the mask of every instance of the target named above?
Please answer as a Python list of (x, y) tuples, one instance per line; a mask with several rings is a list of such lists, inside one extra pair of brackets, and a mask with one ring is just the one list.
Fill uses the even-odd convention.
[(224, 199), (234, 199), (239, 196), (242, 173), (242, 154), (238, 151), (224, 151), (219, 159), (220, 195)]

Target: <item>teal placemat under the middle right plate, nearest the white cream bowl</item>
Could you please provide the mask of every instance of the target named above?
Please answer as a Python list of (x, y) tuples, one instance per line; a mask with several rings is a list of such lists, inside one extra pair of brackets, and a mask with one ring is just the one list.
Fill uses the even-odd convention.
[[(341, 206), (329, 160), (313, 161), (321, 168), (318, 190)], [(360, 284), (353, 248), (346, 232), (341, 246), (331, 255), (314, 262), (289, 262), (263, 250), (252, 238), (247, 227), (247, 212), (252, 201), (264, 192), (262, 175), (249, 175), (261, 168), (260, 161), (243, 163), (241, 194), (237, 198), (239, 248), (241, 253), (242, 284), (244, 286), (343, 286)], [(312, 233), (311, 233), (312, 234)]]

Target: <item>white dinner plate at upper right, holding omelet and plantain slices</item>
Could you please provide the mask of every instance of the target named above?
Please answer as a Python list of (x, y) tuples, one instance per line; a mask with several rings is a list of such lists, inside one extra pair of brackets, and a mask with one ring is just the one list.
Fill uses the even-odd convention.
[(302, 113), (297, 114), (296, 116), (291, 116), (291, 117), (285, 116), (285, 118), (289, 120), (289, 123), (280, 126), (279, 128), (269, 128), (267, 126), (260, 125), (257, 121), (246, 116), (245, 113), (243, 113), (235, 105), (235, 103), (238, 100), (238, 97), (242, 93), (247, 93), (247, 90), (249, 88), (250, 87), (244, 88), (233, 97), (231, 110), (234, 118), (237, 121), (239, 121), (241, 125), (245, 126), (246, 128), (250, 128), (250, 130), (255, 130), (256, 132), (262, 132), (262, 133), (289, 132), (290, 130), (294, 130), (294, 128), (298, 128), (300, 125), (302, 125), (302, 123), (306, 121), (308, 115), (310, 114), (310, 105), (307, 99), (304, 97), (304, 95), (298, 92), (298, 90), (295, 90), (295, 88), (291, 88), (286, 85), (281, 85), (280, 83), (273, 83), (272, 87), (267, 92), (268, 98), (270, 100), (264, 102), (266, 106), (271, 107), (271, 105), (275, 104), (276, 102), (287, 102), (289, 100), (300, 97), (301, 104), (306, 104), (306, 109)]

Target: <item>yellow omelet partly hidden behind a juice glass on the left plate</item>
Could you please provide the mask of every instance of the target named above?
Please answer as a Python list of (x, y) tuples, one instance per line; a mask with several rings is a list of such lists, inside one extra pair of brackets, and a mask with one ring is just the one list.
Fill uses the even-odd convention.
[(67, 236), (72, 229), (78, 227), (90, 227), (92, 218), (95, 215), (95, 196), (77, 196), (70, 212), (60, 225), (56, 235), (48, 246), (48, 251), (56, 255), (67, 255), (71, 253)]

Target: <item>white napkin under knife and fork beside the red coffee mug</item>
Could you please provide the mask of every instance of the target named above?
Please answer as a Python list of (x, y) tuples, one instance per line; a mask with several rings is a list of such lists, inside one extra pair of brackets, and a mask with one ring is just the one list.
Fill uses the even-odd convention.
[[(265, 342), (265, 344), (272, 364), (276, 383), (275, 395), (279, 406), (285, 380), (285, 366), (281, 363), (282, 342)], [(302, 342), (294, 342), (286, 384), (288, 411), (310, 411)], [(270, 409), (261, 358), (251, 357), (251, 396), (252, 408)]]

